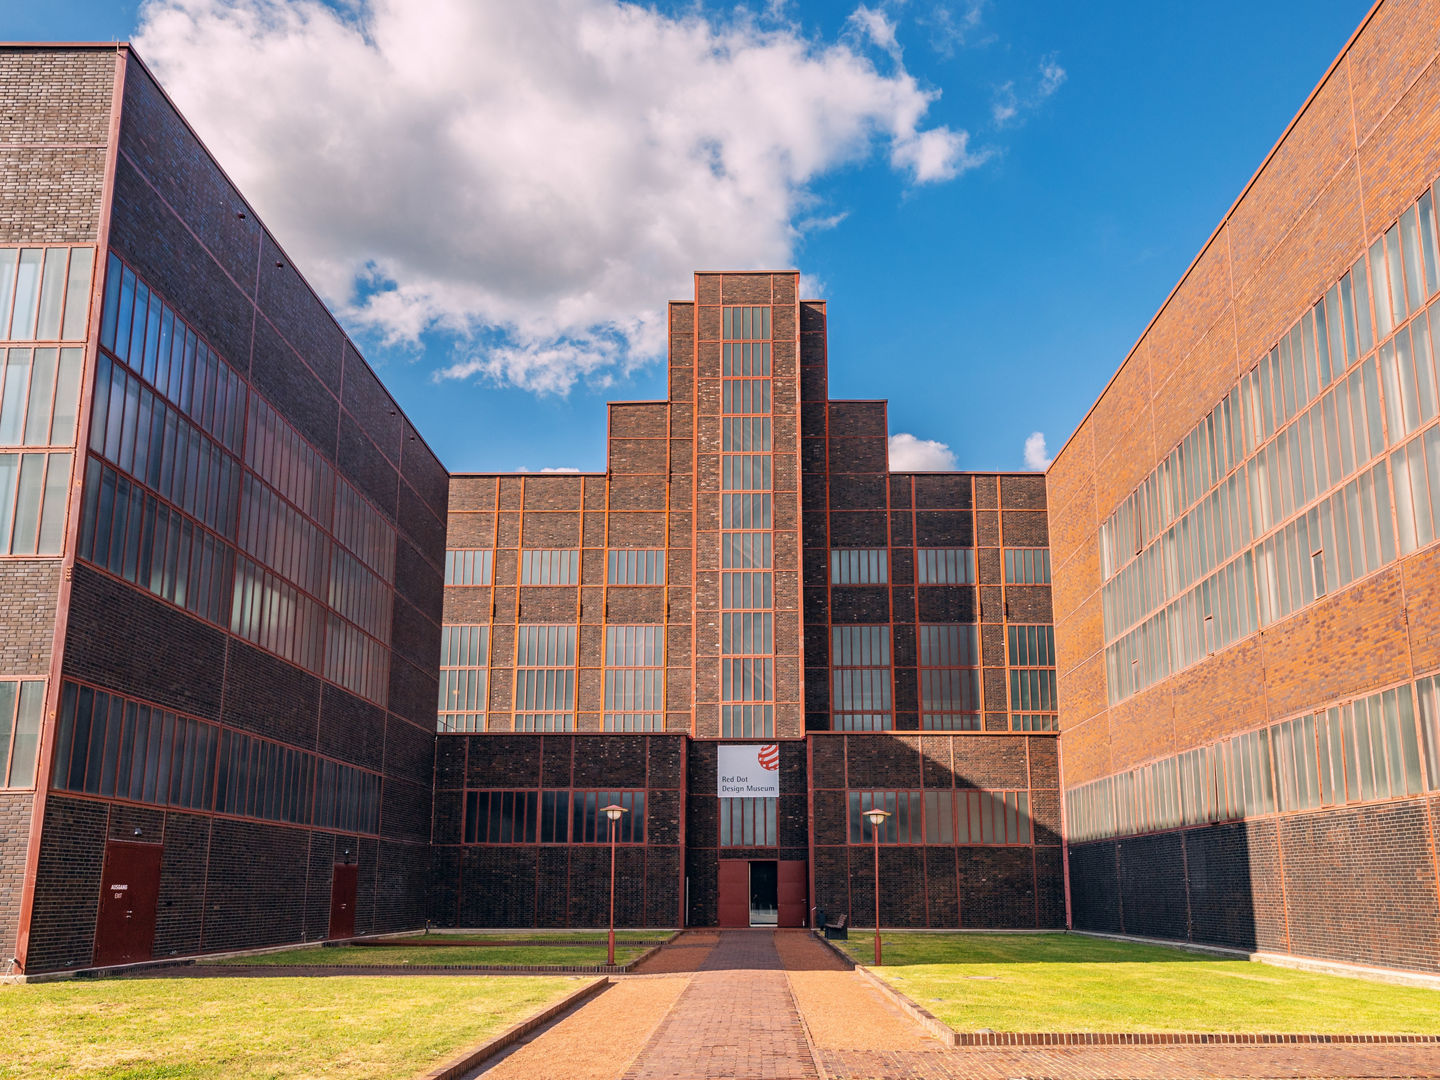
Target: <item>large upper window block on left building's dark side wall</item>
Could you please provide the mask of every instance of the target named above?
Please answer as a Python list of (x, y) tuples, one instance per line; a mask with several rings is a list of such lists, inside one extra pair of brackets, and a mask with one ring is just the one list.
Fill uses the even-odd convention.
[[(393, 524), (114, 253), (89, 442), (91, 461), (114, 471), (112, 487), (124, 475), (143, 488), (138, 513), (147, 517), (132, 523), (130, 507), (124, 524), (102, 516), (108, 474), (86, 468), (95, 481), (82, 511), (86, 562), (384, 704)], [(132, 491), (127, 497), (134, 503)], [(199, 592), (189, 589), (193, 562), (186, 588), (179, 563), (158, 589), (140, 572), (151, 550), (147, 523), (158, 536), (161, 510), (186, 559), (202, 563)], [(101, 536), (104, 550), (95, 547)], [(192, 544), (199, 537), (199, 556), (186, 536)], [(196, 596), (204, 598), (200, 611)]]

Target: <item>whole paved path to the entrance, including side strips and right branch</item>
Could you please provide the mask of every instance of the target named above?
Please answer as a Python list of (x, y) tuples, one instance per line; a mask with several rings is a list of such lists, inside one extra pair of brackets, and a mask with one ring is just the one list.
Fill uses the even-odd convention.
[[(667, 955), (668, 953), (668, 955)], [(1433, 1077), (1434, 1045), (948, 1048), (804, 932), (687, 933), (484, 1074), (495, 1080)], [(693, 972), (693, 973), (691, 973)]]

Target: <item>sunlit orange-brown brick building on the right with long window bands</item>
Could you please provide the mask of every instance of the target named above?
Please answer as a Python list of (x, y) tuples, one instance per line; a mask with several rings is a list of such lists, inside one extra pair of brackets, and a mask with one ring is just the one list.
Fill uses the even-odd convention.
[(1440, 971), (1437, 26), (1372, 9), (1048, 471), (1077, 927)]

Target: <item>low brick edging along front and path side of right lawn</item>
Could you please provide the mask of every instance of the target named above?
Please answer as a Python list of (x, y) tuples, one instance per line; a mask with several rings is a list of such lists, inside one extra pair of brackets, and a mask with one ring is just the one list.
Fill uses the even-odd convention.
[(1175, 1045), (1440, 1045), (1440, 1035), (1322, 1035), (1248, 1031), (956, 1031), (903, 991), (857, 963), (850, 953), (815, 935), (920, 1027), (948, 1047), (1175, 1047)]

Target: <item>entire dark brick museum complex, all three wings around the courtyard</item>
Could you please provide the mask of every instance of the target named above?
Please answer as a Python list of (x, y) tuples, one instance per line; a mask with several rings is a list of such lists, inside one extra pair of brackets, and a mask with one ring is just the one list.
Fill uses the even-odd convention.
[(1437, 26), (1045, 477), (890, 472), (796, 272), (696, 275), (605, 472), (449, 475), (132, 50), (0, 48), (12, 968), (596, 926), (616, 804), (622, 924), (865, 923), (880, 806), (887, 924), (1437, 971)]

